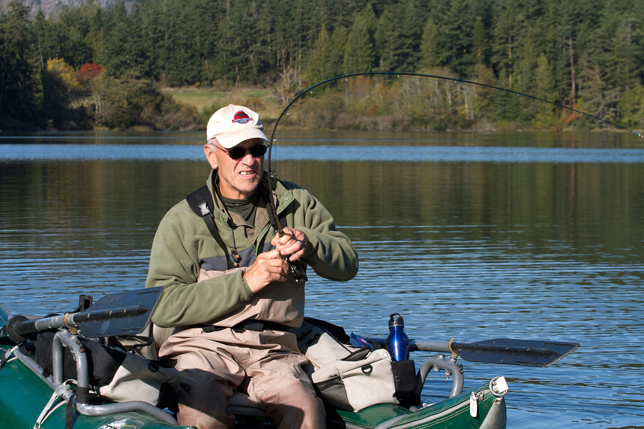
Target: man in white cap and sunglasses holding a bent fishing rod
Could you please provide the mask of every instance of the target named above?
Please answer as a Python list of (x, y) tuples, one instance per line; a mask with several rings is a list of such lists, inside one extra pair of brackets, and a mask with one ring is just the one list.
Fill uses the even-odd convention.
[(330, 280), (350, 280), (357, 253), (306, 190), (276, 180), (269, 190), (262, 130), (247, 107), (231, 104), (213, 114), (204, 145), (213, 167), (204, 192), (213, 207), (202, 210), (208, 198), (191, 200), (201, 203), (197, 210), (181, 201), (152, 245), (146, 286), (164, 287), (153, 322), (176, 328), (159, 357), (180, 370), (179, 423), (198, 429), (234, 426), (226, 411), (233, 390), (247, 393), (280, 428), (325, 427), (303, 370), (307, 360), (287, 332), (302, 322), (304, 286), (285, 259)]

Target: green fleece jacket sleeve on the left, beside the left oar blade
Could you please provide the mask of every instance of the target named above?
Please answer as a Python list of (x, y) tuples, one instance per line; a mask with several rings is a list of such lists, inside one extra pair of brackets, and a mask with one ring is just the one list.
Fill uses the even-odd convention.
[(252, 297), (242, 271), (197, 283), (198, 239), (167, 214), (156, 230), (146, 288), (162, 286), (152, 321), (160, 327), (202, 324), (229, 313)]

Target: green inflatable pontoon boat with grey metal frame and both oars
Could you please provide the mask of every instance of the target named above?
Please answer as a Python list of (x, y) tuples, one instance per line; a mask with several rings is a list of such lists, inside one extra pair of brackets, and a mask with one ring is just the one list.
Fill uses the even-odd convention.
[[(120, 429), (120, 428), (189, 428), (178, 426), (174, 415), (145, 401), (130, 400), (114, 403), (104, 399), (86, 403), (82, 388), (88, 382), (86, 338), (135, 334), (143, 331), (160, 297), (160, 288), (140, 289), (112, 295), (93, 306), (63, 316), (33, 318), (12, 316), (0, 306), (0, 419), (3, 426), (14, 429)], [(91, 301), (90, 301), (91, 302)], [(124, 305), (125, 304), (125, 305)], [(55, 332), (52, 347), (52, 374), (37, 363), (30, 333)], [(81, 341), (82, 340), (82, 341)], [(375, 347), (384, 343), (380, 338), (366, 338)], [(421, 393), (431, 369), (443, 370), (453, 376), (450, 397), (431, 405), (377, 404), (359, 412), (336, 410), (327, 406), (328, 428), (403, 429), (461, 428), (499, 429), (506, 427), (504, 395), (508, 388), (503, 377), (491, 379), (468, 392), (462, 392), (464, 360), (513, 365), (547, 366), (560, 360), (578, 347), (577, 343), (535, 342), (533, 340), (496, 339), (478, 343), (420, 342), (410, 343), (411, 351), (439, 352), (421, 366), (417, 375), (416, 393)], [(77, 379), (64, 380), (63, 349), (72, 354)], [(440, 353), (449, 353), (444, 356)], [(239, 427), (270, 427), (265, 412), (255, 408), (236, 393), (229, 403), (229, 412), (236, 415)]]

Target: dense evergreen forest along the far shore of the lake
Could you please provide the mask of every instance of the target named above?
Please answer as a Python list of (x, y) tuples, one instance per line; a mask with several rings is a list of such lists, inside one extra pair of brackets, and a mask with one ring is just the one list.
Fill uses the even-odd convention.
[[(641, 0), (91, 1), (0, 15), (0, 129), (188, 129), (207, 111), (164, 87), (308, 86), (367, 71), (430, 73), (644, 125)], [(261, 107), (263, 100), (242, 100)], [(585, 129), (553, 105), (449, 82), (360, 78), (319, 91), (307, 127)], [(350, 120), (348, 119), (350, 118)]]

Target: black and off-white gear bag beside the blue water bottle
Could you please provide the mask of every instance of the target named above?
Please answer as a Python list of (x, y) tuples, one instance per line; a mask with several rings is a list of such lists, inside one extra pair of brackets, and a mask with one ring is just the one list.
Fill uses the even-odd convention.
[(344, 329), (322, 320), (304, 318), (293, 332), (311, 362), (314, 387), (335, 408), (357, 412), (375, 404), (398, 404), (415, 391), (413, 360), (393, 361), (385, 349), (370, 352), (347, 345)]

